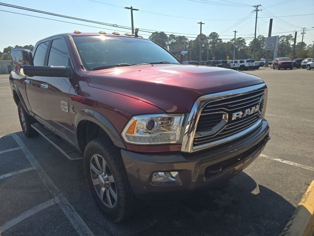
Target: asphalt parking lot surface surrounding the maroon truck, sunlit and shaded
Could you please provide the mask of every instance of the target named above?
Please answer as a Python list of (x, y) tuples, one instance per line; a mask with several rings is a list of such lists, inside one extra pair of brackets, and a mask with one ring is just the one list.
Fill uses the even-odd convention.
[(314, 180), (314, 70), (245, 73), (268, 86), (271, 140), (262, 155), (202, 196), (144, 207), (120, 224), (97, 208), (81, 161), (24, 136), (0, 75), (0, 235), (279, 235)]

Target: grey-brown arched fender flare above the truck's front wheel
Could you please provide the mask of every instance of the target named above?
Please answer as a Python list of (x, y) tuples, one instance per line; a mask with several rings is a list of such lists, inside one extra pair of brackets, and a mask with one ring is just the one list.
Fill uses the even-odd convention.
[(106, 132), (106, 134), (110, 137), (110, 139), (112, 140), (115, 146), (119, 148), (126, 148), (123, 141), (121, 140), (121, 137), (118, 131), (112, 125), (112, 123), (99, 112), (96, 112), (90, 109), (80, 110), (79, 112), (77, 112), (75, 116), (75, 121), (74, 121), (75, 137), (77, 141), (78, 141), (77, 127), (78, 127), (78, 123), (82, 120), (89, 120), (96, 123)]

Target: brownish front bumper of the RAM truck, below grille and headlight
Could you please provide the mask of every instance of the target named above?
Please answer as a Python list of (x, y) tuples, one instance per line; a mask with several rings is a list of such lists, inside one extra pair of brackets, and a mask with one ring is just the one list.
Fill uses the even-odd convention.
[[(136, 153), (121, 149), (131, 188), (138, 198), (187, 198), (208, 190), (242, 171), (261, 153), (269, 140), (266, 120), (251, 133), (230, 143), (195, 153)], [(221, 171), (212, 174), (219, 166)], [(179, 172), (173, 182), (151, 181), (155, 172)]]

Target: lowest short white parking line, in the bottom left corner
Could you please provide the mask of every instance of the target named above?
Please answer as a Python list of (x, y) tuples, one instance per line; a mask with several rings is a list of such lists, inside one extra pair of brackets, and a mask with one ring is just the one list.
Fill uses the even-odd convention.
[(16, 224), (20, 223), (21, 221), (25, 220), (26, 218), (36, 214), (37, 212), (39, 212), (43, 209), (46, 209), (47, 207), (50, 207), (50, 206), (56, 204), (57, 201), (58, 201), (58, 199), (56, 199), (56, 198), (51, 199), (45, 203), (42, 203), (36, 207), (31, 208), (30, 210), (27, 210), (26, 212), (22, 213), (18, 217), (13, 218), (12, 220), (5, 222), (3, 225), (0, 226), (0, 235), (4, 231), (10, 229), (11, 227), (15, 226)]

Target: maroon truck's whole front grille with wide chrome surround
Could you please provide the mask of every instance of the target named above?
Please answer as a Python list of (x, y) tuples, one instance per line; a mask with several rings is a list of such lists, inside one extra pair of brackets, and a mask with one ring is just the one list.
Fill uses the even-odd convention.
[[(264, 120), (266, 101), (264, 83), (199, 97), (187, 117), (181, 151), (214, 147), (255, 130)], [(238, 112), (244, 112), (242, 118), (233, 119)]]

